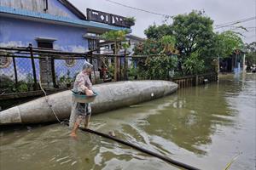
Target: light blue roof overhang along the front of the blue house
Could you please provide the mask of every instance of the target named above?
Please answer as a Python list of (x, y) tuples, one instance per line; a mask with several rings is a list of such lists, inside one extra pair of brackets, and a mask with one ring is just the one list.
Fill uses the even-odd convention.
[(114, 31), (127, 30), (128, 32), (131, 32), (131, 29), (128, 29), (125, 27), (109, 26), (107, 24), (102, 24), (102, 23), (88, 21), (88, 20), (74, 20), (67, 17), (55, 16), (52, 14), (43, 14), (43, 13), (32, 12), (24, 9), (15, 9), (15, 8), (3, 7), (3, 6), (0, 6), (0, 16), (16, 18), (21, 20), (33, 20), (33, 21), (56, 24), (56, 25), (83, 27), (87, 31), (94, 32), (97, 34), (102, 34), (110, 30), (114, 30)]

